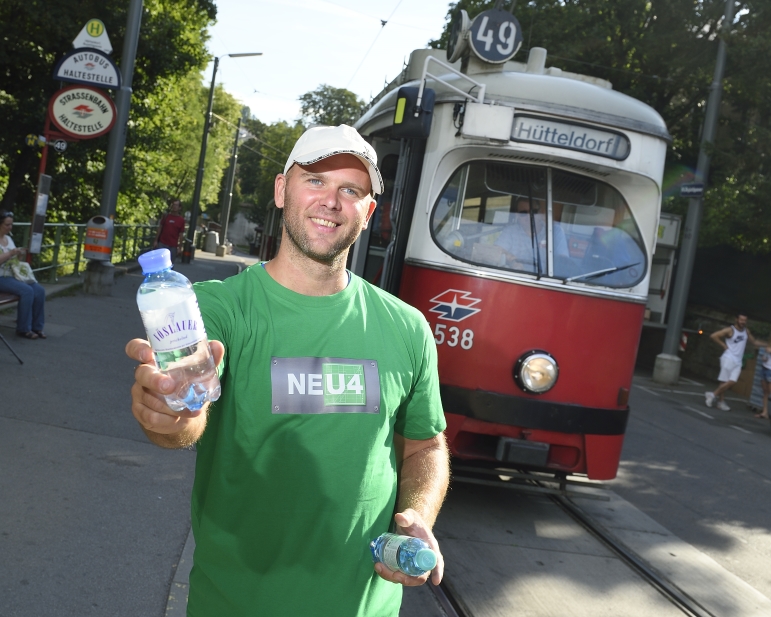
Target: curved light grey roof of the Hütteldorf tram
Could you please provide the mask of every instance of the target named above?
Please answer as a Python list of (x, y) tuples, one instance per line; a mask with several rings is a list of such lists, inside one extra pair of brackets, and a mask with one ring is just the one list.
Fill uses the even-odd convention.
[[(417, 52), (423, 53), (413, 61)], [(444, 54), (442, 50), (413, 52), (410, 65), (399, 78), (386, 87), (379, 99), (375, 99), (372, 107), (356, 123), (357, 127), (363, 127), (386, 113), (392, 113), (399, 87), (420, 85), (420, 71), (416, 72), (417, 67), (413, 64), (420, 60), (422, 69), (422, 60), (426, 55), (436, 57), (438, 54), (435, 52)], [(540, 72), (532, 72), (528, 65), (518, 62), (507, 62), (498, 70), (491, 65), (487, 65), (486, 70), (481, 68), (480, 72), (469, 71), (467, 76), (486, 85), (485, 103), (494, 101), (498, 105), (512, 106), (519, 111), (584, 120), (671, 141), (664, 119), (655, 109), (613, 90), (605, 80), (567, 73), (553, 67), (535, 67), (535, 71)], [(441, 74), (435, 66), (432, 66), (430, 72), (438, 77), (427, 79), (427, 87), (434, 89), (437, 103), (464, 100), (463, 96), (448, 88), (445, 83), (469, 90), (471, 84), (468, 81), (454, 73)]]

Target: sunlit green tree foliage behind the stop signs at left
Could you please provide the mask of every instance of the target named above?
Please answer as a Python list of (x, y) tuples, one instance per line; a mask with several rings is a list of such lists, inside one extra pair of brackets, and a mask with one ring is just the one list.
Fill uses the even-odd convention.
[[(128, 2), (116, 0), (0, 1), (0, 207), (31, 213), (39, 149), (24, 145), (43, 130), (50, 97), (59, 84), (56, 61), (72, 49), (85, 23), (101, 19), (120, 65)], [(206, 28), (216, 16), (210, 0), (144, 0), (132, 83), (117, 219), (145, 222), (167, 197), (188, 200), (197, 169), (207, 88), (200, 71), (208, 56)], [(237, 118), (230, 95), (217, 91), (215, 113)], [(216, 124), (209, 139), (203, 198), (216, 200), (227, 165), (227, 133)], [(65, 153), (49, 150), (50, 221), (84, 221), (100, 207), (109, 136), (71, 142)], [(25, 216), (26, 215), (26, 216)]]

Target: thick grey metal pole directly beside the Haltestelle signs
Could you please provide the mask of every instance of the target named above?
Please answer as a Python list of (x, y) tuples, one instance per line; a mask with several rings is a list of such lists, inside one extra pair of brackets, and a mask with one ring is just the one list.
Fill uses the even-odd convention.
[(126, 38), (123, 41), (123, 56), (121, 57), (121, 87), (115, 96), (115, 106), (118, 117), (110, 132), (110, 142), (107, 146), (107, 161), (104, 169), (104, 184), (102, 186), (102, 204), (100, 214), (108, 218), (115, 217), (120, 189), (121, 169), (123, 168), (123, 151), (126, 147), (126, 125), (131, 107), (131, 83), (134, 78), (134, 62), (139, 42), (139, 27), (142, 23), (142, 0), (131, 0), (128, 21), (126, 23)]

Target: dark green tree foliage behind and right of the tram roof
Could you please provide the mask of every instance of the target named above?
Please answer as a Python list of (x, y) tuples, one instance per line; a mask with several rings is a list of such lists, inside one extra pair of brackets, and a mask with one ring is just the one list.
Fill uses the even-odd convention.
[[(494, 5), (452, 3), (442, 35), (429, 45), (446, 48), (456, 10), (473, 18)], [(531, 47), (545, 47), (550, 65), (607, 79), (656, 109), (673, 138), (664, 208), (684, 213), (687, 204), (674, 193), (679, 182), (692, 180), (696, 167), (724, 11), (725, 0), (519, 2), (515, 15), (524, 43), (515, 60), (525, 61)], [(771, 11), (767, 2), (739, 1), (736, 15), (726, 36), (723, 104), (699, 244), (768, 254), (771, 73), (764, 67), (771, 52)]]

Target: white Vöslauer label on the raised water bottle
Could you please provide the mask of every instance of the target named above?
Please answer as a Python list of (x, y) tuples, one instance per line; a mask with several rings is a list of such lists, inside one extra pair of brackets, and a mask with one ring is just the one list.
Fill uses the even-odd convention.
[(195, 295), (179, 304), (140, 311), (140, 314), (147, 331), (147, 340), (156, 353), (184, 349), (206, 338)]

